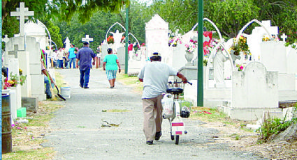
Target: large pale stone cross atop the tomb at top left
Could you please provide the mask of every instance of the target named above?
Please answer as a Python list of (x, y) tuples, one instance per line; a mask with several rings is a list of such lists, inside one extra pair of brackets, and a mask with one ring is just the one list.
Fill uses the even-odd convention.
[(34, 16), (34, 11), (28, 11), (28, 8), (24, 8), (24, 2), (20, 2), (20, 8), (17, 8), (16, 12), (10, 12), (10, 16), (17, 16), (17, 19), (20, 19), (20, 36), (23, 36), (24, 19), (29, 19), (28, 16)]

